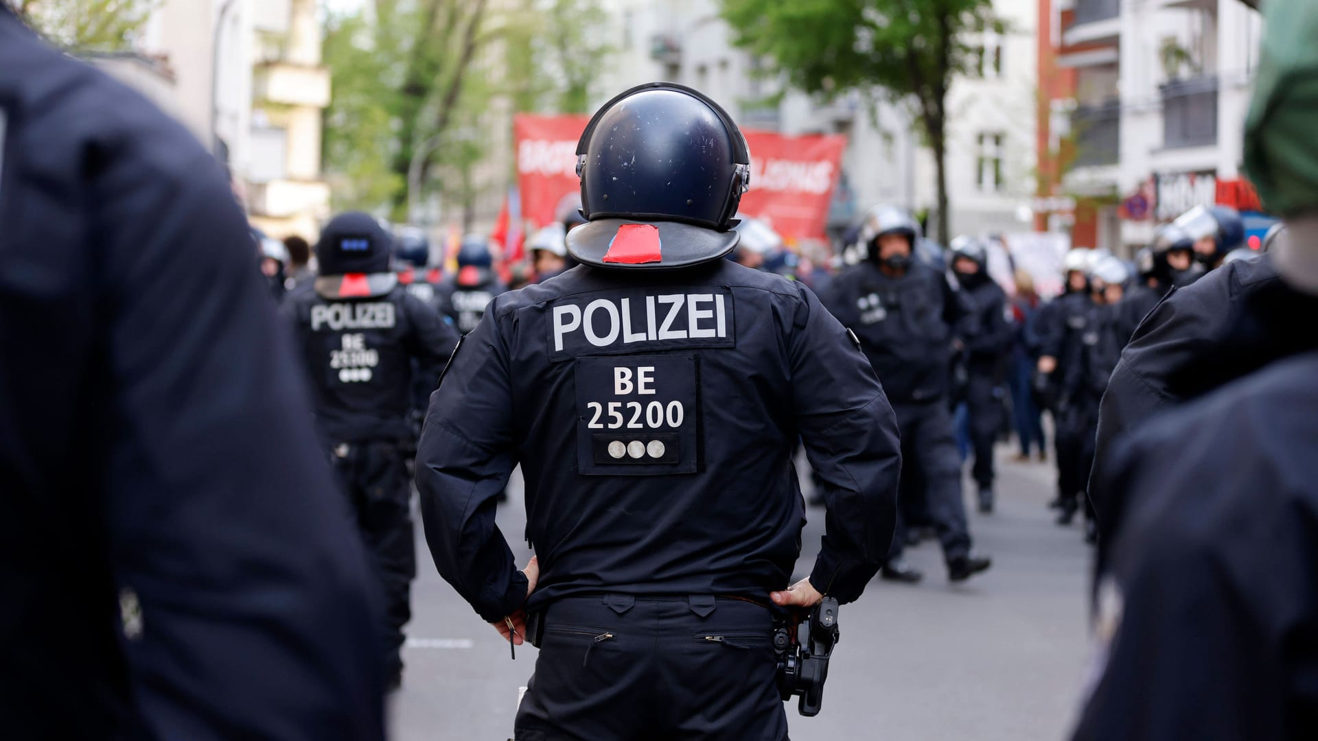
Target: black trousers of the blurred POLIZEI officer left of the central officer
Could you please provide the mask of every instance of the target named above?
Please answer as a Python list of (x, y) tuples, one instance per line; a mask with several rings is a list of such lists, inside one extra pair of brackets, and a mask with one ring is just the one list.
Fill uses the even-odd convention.
[(416, 576), (411, 483), (398, 440), (343, 443), (330, 456), (385, 596), (381, 625), (385, 676), (402, 671), (403, 625), (411, 618)]

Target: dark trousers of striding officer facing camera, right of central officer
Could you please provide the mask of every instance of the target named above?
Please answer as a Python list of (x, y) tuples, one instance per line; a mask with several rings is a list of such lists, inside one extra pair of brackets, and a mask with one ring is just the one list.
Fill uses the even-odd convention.
[[(902, 496), (907, 496), (912, 481), (919, 481), (927, 516), (942, 545), (942, 556), (952, 560), (967, 555), (970, 530), (961, 493), (961, 458), (946, 400), (894, 402), (892, 411), (902, 434)], [(898, 534), (888, 550), (890, 560), (902, 555), (904, 527), (904, 517), (899, 516)]]

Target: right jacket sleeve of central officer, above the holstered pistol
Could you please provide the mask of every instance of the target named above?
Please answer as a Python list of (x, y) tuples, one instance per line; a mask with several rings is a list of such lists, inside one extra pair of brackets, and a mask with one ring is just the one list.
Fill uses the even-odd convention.
[(849, 603), (892, 543), (902, 446), (869, 360), (808, 287), (797, 290), (788, 341), (792, 411), (828, 510), (811, 584)]

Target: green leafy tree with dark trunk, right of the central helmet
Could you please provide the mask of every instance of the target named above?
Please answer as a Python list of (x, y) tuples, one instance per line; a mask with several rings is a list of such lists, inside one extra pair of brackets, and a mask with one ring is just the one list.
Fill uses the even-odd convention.
[(937, 236), (948, 244), (948, 90), (978, 74), (974, 33), (1003, 30), (991, 0), (722, 0), (722, 13), (737, 44), (793, 87), (878, 90), (913, 105), (933, 150)]

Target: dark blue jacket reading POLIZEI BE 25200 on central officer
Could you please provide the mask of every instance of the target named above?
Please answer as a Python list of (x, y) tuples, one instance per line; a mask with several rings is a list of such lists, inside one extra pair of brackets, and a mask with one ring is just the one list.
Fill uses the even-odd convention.
[(792, 467), (828, 502), (811, 574), (850, 601), (887, 552), (900, 452), (883, 389), (811, 290), (728, 260), (587, 265), (494, 299), (431, 397), (416, 455), (439, 572), (488, 621), (526, 579), (494, 525), (518, 463), (540, 581), (590, 592), (767, 600), (800, 552)]

